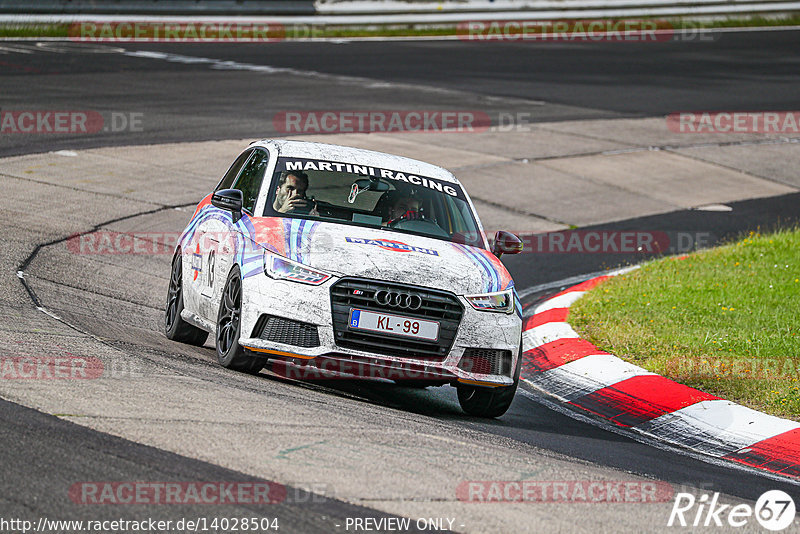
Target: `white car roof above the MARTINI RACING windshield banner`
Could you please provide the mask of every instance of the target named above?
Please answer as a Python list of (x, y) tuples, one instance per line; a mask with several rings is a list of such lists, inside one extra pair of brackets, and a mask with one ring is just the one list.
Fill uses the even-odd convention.
[(310, 141), (288, 141), (285, 139), (262, 139), (254, 141), (250, 146), (272, 147), (280, 156), (295, 158), (321, 159), (340, 163), (355, 163), (404, 173), (436, 178), (445, 182), (458, 184), (453, 173), (442, 167), (425, 163), (416, 159), (376, 152), (364, 148), (354, 148)]

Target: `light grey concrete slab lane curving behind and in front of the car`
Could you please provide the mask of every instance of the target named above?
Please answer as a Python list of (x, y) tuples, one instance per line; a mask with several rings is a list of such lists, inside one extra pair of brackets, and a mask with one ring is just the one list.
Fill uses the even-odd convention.
[[(664, 119), (301, 139), (444, 166), (465, 184), (492, 230), (546, 232), (800, 189), (797, 136), (677, 134)], [(0, 306), (8, 318), (0, 326), (0, 355), (83, 356), (104, 368), (93, 380), (0, 380), (0, 397), (242, 473), (325, 487), (333, 497), (381, 511), (455, 517), (459, 531), (524, 531), (536, 524), (548, 531), (663, 530), (671, 498), (577, 511), (571, 503), (460, 500), (456, 488), (465, 480), (640, 479), (459, 425), (447, 397), (452, 392), (419, 393), (450, 399), (438, 415), (451, 419), (367, 402), (353, 410), (346, 394), (232, 373), (216, 366), (208, 349), (167, 341), (160, 327), (169, 253), (76, 254), (63, 242), (43, 247), (24, 276), (47, 313), (31, 305), (17, 271), (36, 245), (112, 220), (102, 229), (180, 232), (193, 205), (249, 141), (0, 161)], [(720, 502), (741, 500), (722, 495)]]

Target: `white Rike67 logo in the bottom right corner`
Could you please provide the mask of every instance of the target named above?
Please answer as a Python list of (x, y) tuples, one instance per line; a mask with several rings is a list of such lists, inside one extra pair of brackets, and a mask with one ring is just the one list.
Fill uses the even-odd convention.
[(703, 494), (699, 499), (691, 493), (678, 493), (667, 526), (743, 527), (755, 517), (763, 528), (777, 532), (789, 527), (795, 514), (794, 500), (781, 490), (763, 493), (755, 506), (720, 504), (719, 493)]

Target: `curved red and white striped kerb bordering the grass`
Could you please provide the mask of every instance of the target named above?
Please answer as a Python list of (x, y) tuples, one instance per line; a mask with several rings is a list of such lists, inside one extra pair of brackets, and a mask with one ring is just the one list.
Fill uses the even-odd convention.
[(800, 423), (679, 384), (603, 352), (566, 322), (569, 307), (613, 276), (570, 287), (523, 325), (522, 380), (568, 410), (674, 446), (800, 478)]

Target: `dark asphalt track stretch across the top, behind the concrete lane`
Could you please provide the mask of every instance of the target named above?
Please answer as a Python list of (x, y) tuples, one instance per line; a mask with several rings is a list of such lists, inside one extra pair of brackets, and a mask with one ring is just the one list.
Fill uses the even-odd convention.
[[(420, 109), (424, 104), (479, 109), (493, 119), (498, 112), (528, 113), (539, 122), (796, 108), (798, 32), (707, 37), (711, 41), (539, 45), (7, 41), (0, 49), (4, 108), (84, 109), (91, 103), (90, 109), (100, 112), (142, 113), (143, 131), (57, 139), (4, 136), (0, 155), (261, 138), (276, 133), (272, 118), (286, 110)], [(252, 65), (295, 73), (265, 79), (248, 70)], [(354, 79), (348, 82), (348, 77)]]

